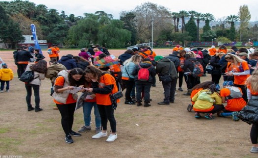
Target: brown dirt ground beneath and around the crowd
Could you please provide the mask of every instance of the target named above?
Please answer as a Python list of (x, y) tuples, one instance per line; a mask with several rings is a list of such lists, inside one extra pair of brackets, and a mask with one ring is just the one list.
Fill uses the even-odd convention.
[[(167, 55), (170, 50), (154, 50)], [(110, 50), (118, 56), (125, 50)], [(79, 51), (61, 50), (61, 55)], [(44, 51), (48, 61), (48, 55)], [(16, 72), (12, 51), (1, 51), (0, 57)], [(158, 78), (157, 78), (158, 80)], [(210, 76), (201, 81), (210, 80)], [(222, 82), (221, 82), (222, 84)], [(27, 111), (24, 83), (17, 75), (10, 82), (10, 92), (0, 93), (0, 156), (22, 158), (258, 158), (249, 152), (251, 126), (234, 122), (230, 117), (215, 115), (214, 120), (194, 118), (186, 110), (190, 98), (177, 91), (175, 103), (157, 105), (162, 101), (163, 88), (159, 81), (151, 88), (151, 106), (124, 105), (124, 98), (115, 110), (118, 139), (107, 143), (106, 138), (92, 139), (92, 131), (73, 137), (74, 143), (65, 143), (61, 115), (53, 110), (50, 80), (42, 80), (40, 87), (41, 112)], [(186, 84), (183, 83), (186, 90)], [(125, 91), (124, 91), (125, 93)], [(34, 98), (32, 97), (32, 101)], [(34, 103), (32, 102), (34, 106)], [(93, 116), (93, 114), (92, 114)], [(73, 130), (83, 125), (82, 109), (75, 111)], [(110, 127), (108, 126), (108, 130)], [(3, 158), (3, 157), (1, 157)], [(20, 157), (21, 158), (21, 157)]]

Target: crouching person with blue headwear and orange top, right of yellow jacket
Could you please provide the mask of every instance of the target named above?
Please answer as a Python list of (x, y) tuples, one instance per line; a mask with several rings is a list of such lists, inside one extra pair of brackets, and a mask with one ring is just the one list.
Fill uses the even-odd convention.
[(218, 112), (218, 116), (232, 116), (232, 120), (238, 121), (237, 111), (240, 111), (246, 102), (242, 98), (241, 88), (234, 87), (233, 81), (224, 81), (223, 89), (220, 91), (222, 103), (226, 103), (225, 110)]

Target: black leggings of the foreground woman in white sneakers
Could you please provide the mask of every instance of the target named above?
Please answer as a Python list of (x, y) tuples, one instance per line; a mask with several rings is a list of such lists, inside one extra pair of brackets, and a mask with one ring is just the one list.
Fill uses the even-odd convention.
[(107, 120), (110, 123), (111, 132), (117, 132), (117, 122), (114, 116), (114, 109), (111, 105), (97, 105), (100, 117), (102, 130), (107, 130)]

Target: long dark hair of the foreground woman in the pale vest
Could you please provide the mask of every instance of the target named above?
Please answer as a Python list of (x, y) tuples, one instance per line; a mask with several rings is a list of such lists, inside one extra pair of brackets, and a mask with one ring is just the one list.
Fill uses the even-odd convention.
[[(73, 75), (82, 75), (82, 78), (80, 80), (75, 80), (72, 78)], [(78, 85), (82, 85), (84, 84), (84, 79), (83, 79), (83, 75), (84, 75), (84, 72), (81, 68), (74, 68), (74, 69), (71, 69), (70, 72), (69, 72), (69, 75), (68, 75), (68, 80), (69, 80), (69, 83), (71, 86), (78, 86)]]

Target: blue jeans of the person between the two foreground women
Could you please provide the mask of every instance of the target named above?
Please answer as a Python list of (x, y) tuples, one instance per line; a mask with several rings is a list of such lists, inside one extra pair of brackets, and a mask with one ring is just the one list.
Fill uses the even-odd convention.
[(96, 127), (101, 127), (101, 118), (100, 118), (100, 114), (99, 114), (96, 102), (84, 102), (82, 105), (85, 126), (91, 126), (92, 107), (94, 107)]

